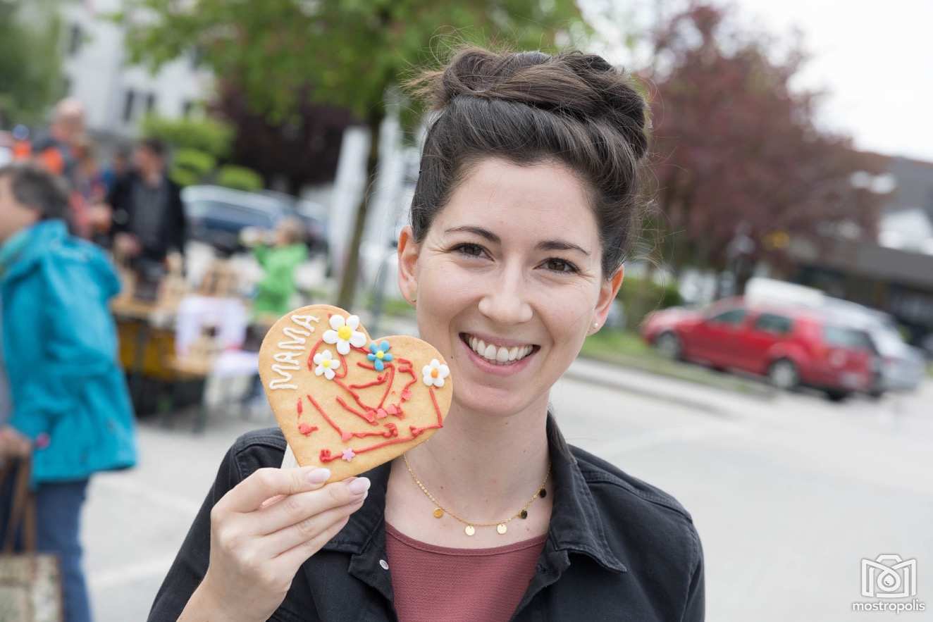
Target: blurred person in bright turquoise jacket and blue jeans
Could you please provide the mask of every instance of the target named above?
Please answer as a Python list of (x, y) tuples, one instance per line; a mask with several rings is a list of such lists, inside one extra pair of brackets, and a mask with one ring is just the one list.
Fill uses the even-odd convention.
[[(97, 247), (69, 235), (67, 211), (60, 178), (31, 163), (0, 169), (0, 459), (31, 458), (36, 546), (59, 556), (65, 619), (86, 622), (88, 482), (132, 466), (136, 445), (107, 307), (117, 275)], [(5, 506), (11, 480), (0, 485)]]

